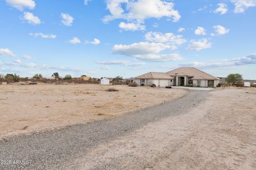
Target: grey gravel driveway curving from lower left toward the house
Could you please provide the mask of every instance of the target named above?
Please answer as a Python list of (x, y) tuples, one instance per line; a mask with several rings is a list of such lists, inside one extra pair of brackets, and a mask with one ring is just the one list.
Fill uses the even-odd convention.
[(0, 169), (79, 169), (74, 160), (83, 157), (87, 151), (125, 137), (148, 123), (187, 114), (209, 94), (209, 91), (191, 91), (170, 103), (121, 117), (4, 139), (0, 141), (0, 160), (19, 160), (29, 164), (0, 165)]

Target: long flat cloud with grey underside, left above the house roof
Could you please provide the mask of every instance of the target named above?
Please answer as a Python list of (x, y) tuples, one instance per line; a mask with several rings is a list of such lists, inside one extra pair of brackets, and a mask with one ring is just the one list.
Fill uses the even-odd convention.
[(142, 61), (178, 61), (182, 60), (179, 54), (159, 54), (165, 49), (171, 49), (171, 45), (162, 43), (140, 42), (131, 45), (115, 45), (112, 49), (114, 54), (135, 57)]

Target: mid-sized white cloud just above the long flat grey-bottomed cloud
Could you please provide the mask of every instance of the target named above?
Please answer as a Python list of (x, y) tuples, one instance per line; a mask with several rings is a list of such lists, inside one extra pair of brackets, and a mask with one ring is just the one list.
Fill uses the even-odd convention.
[[(174, 35), (171, 32), (161, 33), (161, 32), (148, 32), (145, 35), (147, 41), (154, 41), (155, 43), (166, 43), (169, 45), (182, 45), (187, 42), (183, 39), (181, 35)], [(177, 49), (174, 48), (174, 49)]]

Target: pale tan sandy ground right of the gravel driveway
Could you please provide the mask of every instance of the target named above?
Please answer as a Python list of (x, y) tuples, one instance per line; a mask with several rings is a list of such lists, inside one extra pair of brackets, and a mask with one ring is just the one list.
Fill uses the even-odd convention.
[(150, 123), (77, 163), (81, 169), (255, 169), (256, 89), (210, 94), (189, 113)]

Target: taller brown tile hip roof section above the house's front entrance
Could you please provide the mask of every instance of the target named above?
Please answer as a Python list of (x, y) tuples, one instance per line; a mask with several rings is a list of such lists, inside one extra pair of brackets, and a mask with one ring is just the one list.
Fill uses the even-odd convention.
[(167, 72), (166, 74), (174, 77), (179, 76), (179, 74), (181, 73), (188, 75), (189, 77), (198, 77), (198, 79), (200, 78), (200, 80), (220, 80), (219, 78), (214, 77), (211, 74), (205, 73), (204, 71), (201, 71), (199, 69), (196, 69), (195, 67), (180, 67), (178, 69)]

